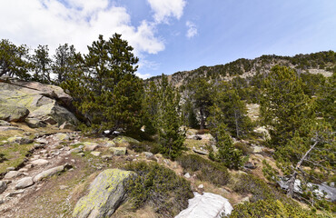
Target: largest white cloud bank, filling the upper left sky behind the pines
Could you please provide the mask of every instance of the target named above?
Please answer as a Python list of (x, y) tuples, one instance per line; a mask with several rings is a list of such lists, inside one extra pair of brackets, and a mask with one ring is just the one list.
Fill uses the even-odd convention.
[(122, 34), (134, 47), (134, 54), (157, 54), (163, 40), (155, 36), (155, 25), (143, 21), (131, 25), (124, 7), (109, 6), (108, 0), (11, 0), (0, 1), (0, 37), (13, 43), (49, 45), (51, 52), (64, 43), (86, 53), (98, 35)]

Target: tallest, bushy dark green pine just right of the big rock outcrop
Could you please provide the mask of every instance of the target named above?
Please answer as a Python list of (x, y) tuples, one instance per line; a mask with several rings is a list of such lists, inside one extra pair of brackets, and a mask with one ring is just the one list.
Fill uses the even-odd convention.
[(91, 129), (140, 129), (143, 83), (135, 75), (138, 58), (132, 53), (133, 47), (114, 34), (108, 41), (99, 35), (88, 49), (84, 64), (64, 87), (74, 92)]

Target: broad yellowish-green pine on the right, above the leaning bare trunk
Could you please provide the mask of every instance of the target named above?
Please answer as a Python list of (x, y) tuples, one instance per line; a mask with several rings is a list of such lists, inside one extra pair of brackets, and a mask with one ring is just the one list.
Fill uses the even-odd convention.
[(271, 144), (282, 146), (292, 139), (313, 110), (303, 93), (301, 78), (288, 67), (276, 65), (263, 82), (262, 122), (270, 129)]

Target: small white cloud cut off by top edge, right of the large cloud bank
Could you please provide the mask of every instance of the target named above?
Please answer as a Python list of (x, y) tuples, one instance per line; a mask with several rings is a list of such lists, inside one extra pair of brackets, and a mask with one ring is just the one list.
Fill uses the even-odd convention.
[(154, 12), (156, 23), (168, 23), (168, 18), (173, 16), (180, 19), (183, 15), (185, 0), (147, 0)]

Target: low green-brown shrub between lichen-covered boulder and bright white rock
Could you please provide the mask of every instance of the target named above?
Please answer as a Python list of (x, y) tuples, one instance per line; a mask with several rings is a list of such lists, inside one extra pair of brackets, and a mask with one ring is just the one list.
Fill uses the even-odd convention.
[(155, 213), (174, 217), (193, 197), (189, 182), (158, 163), (129, 163), (125, 169), (138, 174), (128, 183), (133, 209), (151, 205)]

